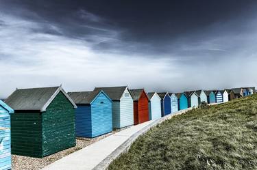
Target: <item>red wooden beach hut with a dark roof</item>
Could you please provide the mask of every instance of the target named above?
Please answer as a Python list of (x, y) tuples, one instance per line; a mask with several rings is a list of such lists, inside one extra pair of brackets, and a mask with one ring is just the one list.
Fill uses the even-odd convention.
[(130, 89), (134, 100), (134, 124), (142, 124), (149, 120), (148, 97), (144, 89)]

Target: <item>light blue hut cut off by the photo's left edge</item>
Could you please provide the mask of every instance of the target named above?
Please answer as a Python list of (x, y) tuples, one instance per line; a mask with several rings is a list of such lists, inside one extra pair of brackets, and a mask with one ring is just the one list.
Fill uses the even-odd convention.
[(0, 169), (11, 169), (10, 114), (14, 113), (7, 104), (0, 100)]

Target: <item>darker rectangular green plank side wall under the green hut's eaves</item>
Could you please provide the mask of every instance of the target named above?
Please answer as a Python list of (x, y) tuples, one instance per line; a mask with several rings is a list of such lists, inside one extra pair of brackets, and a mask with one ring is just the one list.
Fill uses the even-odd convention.
[(14, 113), (11, 127), (12, 154), (42, 158), (42, 115)]

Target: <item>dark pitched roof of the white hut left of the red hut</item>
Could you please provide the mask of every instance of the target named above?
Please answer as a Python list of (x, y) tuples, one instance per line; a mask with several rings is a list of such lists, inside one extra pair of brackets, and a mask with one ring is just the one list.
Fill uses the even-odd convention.
[(120, 100), (127, 86), (121, 87), (96, 87), (95, 90), (103, 90), (112, 100)]

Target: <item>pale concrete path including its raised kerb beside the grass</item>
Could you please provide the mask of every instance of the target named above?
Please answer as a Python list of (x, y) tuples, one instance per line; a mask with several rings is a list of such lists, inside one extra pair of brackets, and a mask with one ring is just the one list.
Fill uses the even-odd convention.
[(185, 113), (188, 110), (191, 110), (191, 108), (121, 130), (82, 150), (53, 162), (42, 170), (106, 169), (112, 160), (117, 158), (121, 153), (126, 152), (130, 148), (130, 145), (151, 127), (160, 124), (166, 119), (171, 119), (174, 115)]

